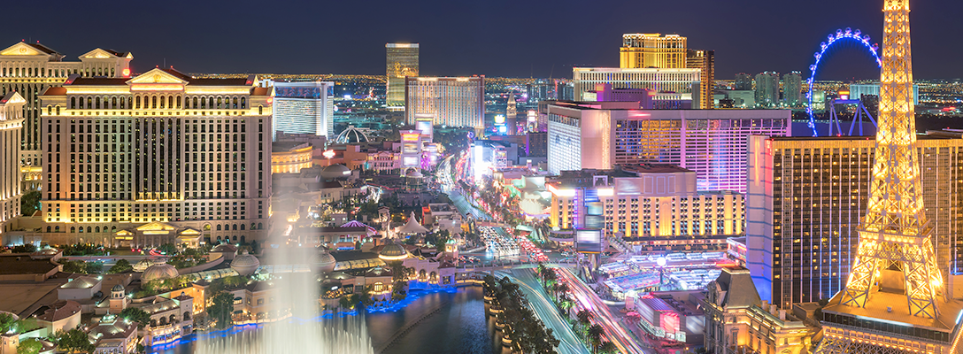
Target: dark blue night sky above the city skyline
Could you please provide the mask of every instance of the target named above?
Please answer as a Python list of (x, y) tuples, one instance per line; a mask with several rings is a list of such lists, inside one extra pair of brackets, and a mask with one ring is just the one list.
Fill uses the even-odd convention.
[[(134, 53), (135, 71), (384, 74), (384, 43), (421, 43), (422, 75), (571, 77), (617, 66), (623, 33), (677, 33), (716, 50), (716, 78), (792, 70), (836, 29), (882, 42), (883, 0), (48, 1), (6, 3), (0, 39), (40, 40), (67, 60), (95, 47)], [(963, 2), (912, 1), (914, 74), (963, 77)], [(878, 79), (840, 48), (822, 79)]]

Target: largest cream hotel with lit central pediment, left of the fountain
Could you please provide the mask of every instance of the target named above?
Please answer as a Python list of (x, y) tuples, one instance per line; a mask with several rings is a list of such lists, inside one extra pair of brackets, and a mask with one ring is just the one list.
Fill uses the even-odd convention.
[(205, 239), (263, 237), (272, 88), (153, 69), (74, 78), (41, 96), (45, 240), (117, 244), (152, 221)]

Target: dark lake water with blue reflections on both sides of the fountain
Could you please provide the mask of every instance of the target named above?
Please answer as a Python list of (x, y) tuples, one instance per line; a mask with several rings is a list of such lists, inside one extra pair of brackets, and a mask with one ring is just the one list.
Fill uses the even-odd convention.
[[(406, 307), (365, 316), (372, 346), (376, 352), (383, 348), (382, 353), (508, 353), (503, 350), (494, 317), (485, 316), (481, 294), (481, 287), (412, 291), (409, 296), (417, 298)], [(235, 327), (231, 332), (258, 330), (255, 326), (247, 326)], [(219, 333), (214, 337), (225, 336), (237, 334)], [(204, 346), (198, 342), (211, 341), (204, 339), (206, 337), (190, 336), (179, 345), (163, 350), (155, 347), (149, 352), (194, 354), (198, 346)], [(393, 342), (388, 344), (388, 341)]]

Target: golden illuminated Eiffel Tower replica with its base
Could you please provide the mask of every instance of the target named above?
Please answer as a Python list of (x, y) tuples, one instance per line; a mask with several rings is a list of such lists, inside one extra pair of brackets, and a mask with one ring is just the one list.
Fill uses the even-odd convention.
[(959, 353), (963, 303), (948, 299), (920, 195), (909, 0), (885, 0), (872, 195), (846, 290), (823, 309), (817, 353)]

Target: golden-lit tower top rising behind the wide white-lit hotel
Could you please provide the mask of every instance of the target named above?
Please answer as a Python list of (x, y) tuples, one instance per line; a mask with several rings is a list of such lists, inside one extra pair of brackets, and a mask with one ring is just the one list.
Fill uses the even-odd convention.
[(686, 68), (686, 41), (679, 35), (625, 34), (619, 49), (619, 67)]

